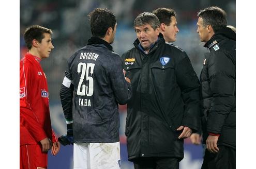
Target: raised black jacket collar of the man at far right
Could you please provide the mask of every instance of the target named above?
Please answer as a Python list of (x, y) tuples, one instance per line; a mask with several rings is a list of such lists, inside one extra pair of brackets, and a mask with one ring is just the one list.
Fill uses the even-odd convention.
[(228, 38), (235, 41), (235, 32), (231, 28), (222, 28), (218, 30), (208, 42), (204, 44), (204, 47), (211, 48), (219, 41)]

